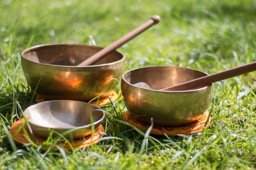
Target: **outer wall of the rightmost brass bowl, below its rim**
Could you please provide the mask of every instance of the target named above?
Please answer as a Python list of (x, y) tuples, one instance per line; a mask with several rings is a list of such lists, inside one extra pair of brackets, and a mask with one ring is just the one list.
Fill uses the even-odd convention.
[[(155, 126), (179, 126), (198, 119), (213, 98), (213, 85), (197, 91), (158, 91), (139, 88), (121, 81), (121, 93), (128, 111), (139, 121)], [(143, 116), (144, 115), (144, 116)]]

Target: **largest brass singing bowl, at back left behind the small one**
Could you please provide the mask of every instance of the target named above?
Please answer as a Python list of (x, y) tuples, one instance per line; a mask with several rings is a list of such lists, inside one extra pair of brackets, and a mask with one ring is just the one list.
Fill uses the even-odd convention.
[(22, 52), (21, 66), (28, 84), (46, 98), (88, 102), (118, 85), (124, 69), (124, 55), (113, 51), (96, 64), (77, 65), (101, 47), (52, 44)]

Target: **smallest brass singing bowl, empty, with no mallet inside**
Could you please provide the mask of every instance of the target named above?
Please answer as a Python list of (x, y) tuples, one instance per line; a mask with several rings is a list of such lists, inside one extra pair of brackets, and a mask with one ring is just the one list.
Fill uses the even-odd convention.
[(33, 133), (47, 138), (59, 134), (77, 139), (92, 134), (104, 119), (99, 107), (79, 101), (59, 100), (40, 102), (25, 109)]

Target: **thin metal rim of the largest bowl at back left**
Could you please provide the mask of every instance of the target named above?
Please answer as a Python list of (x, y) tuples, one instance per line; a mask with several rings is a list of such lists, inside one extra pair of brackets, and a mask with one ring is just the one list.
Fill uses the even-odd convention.
[(59, 45), (64, 45), (64, 46), (86, 46), (86, 47), (96, 47), (96, 48), (102, 48), (103, 47), (99, 47), (99, 46), (89, 46), (89, 45), (84, 45), (84, 44), (40, 44), (40, 45), (36, 45), (36, 46), (32, 46), (28, 49), (25, 49), (24, 51), (22, 51), (21, 53), (21, 57), (24, 59), (24, 60), (27, 60), (27, 61), (30, 61), (32, 63), (36, 63), (36, 64), (39, 64), (39, 65), (45, 65), (45, 66), (55, 66), (55, 67), (63, 67), (63, 68), (67, 68), (67, 67), (70, 67), (70, 68), (96, 68), (96, 67), (101, 67), (101, 66), (109, 66), (109, 65), (113, 65), (113, 64), (116, 64), (116, 63), (119, 63), (119, 62), (122, 62), (124, 59), (125, 59), (125, 56), (121, 53), (121, 52), (118, 52), (119, 54), (122, 55), (122, 58), (118, 61), (115, 61), (115, 62), (112, 62), (112, 63), (105, 63), (105, 64), (100, 64), (100, 65), (92, 65), (92, 66), (61, 66), (61, 65), (51, 65), (51, 64), (43, 64), (43, 63), (38, 63), (38, 62), (34, 62), (34, 61), (31, 61), (31, 60), (28, 60), (24, 57), (24, 54), (29, 52), (29, 51), (33, 51), (35, 49), (39, 49), (41, 47), (47, 47), (47, 46), (59, 46)]

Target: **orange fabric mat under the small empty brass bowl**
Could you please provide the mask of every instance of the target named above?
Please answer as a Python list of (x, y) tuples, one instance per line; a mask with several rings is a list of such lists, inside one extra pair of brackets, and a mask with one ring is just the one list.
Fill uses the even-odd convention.
[[(21, 128), (20, 131), (18, 132), (20, 126), (24, 125), (25, 131), (28, 133), (30, 140), (33, 141), (33, 137), (29, 132), (27, 124), (24, 124), (23, 122), (24, 122), (24, 119), (20, 119), (20, 120), (16, 121), (12, 125), (11, 130), (9, 131), (9, 134), (13, 138), (14, 141), (16, 141), (20, 144), (27, 144), (27, 143), (30, 143), (30, 141), (24, 135), (23, 128)], [(84, 147), (88, 147), (92, 144), (96, 144), (96, 143), (98, 143), (98, 140), (103, 136), (103, 134), (97, 133), (97, 132), (104, 132), (104, 128), (101, 124), (98, 126), (97, 129), (95, 129), (95, 133), (93, 136), (89, 135), (89, 136), (85, 136), (84, 138), (81, 138), (81, 139), (75, 139), (73, 141), (70, 141), (70, 144), (73, 147), (73, 149), (84, 148)], [(33, 141), (33, 142), (37, 145), (41, 145), (43, 142), (46, 141), (45, 138), (37, 136), (36, 134), (34, 134), (34, 138), (35, 138), (35, 141)], [(72, 149), (72, 147), (66, 141), (58, 142), (57, 145), (61, 145), (63, 148), (65, 148), (67, 150)], [(56, 148), (54, 148), (54, 149), (56, 149)]]

